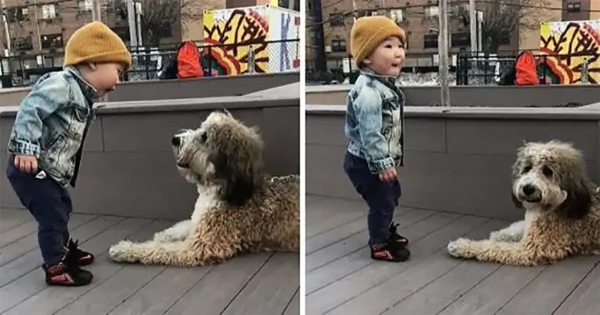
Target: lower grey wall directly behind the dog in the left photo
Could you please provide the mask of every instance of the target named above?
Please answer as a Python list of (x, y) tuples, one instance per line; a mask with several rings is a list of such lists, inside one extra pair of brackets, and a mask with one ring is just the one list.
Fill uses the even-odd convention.
[[(178, 129), (195, 129), (213, 109), (259, 127), (270, 174), (299, 173), (299, 97), (289, 95), (108, 103), (90, 129), (77, 187), (70, 189), (74, 211), (188, 218), (196, 189), (176, 172), (171, 138)], [(22, 208), (5, 171), (14, 109), (0, 114), (0, 206)]]

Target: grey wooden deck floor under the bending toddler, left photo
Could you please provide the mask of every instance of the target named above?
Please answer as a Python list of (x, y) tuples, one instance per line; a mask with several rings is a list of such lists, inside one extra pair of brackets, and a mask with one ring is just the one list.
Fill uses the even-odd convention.
[(148, 239), (174, 222), (73, 214), (73, 237), (97, 256), (84, 287), (48, 287), (37, 225), (23, 210), (0, 209), (0, 314), (299, 314), (298, 254), (256, 254), (211, 268), (114, 263), (108, 248)]

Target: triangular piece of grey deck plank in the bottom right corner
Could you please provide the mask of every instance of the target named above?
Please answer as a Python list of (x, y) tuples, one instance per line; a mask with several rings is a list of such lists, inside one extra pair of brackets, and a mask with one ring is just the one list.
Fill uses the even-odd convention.
[(597, 315), (600, 301), (600, 267), (594, 269), (565, 299), (554, 315)]

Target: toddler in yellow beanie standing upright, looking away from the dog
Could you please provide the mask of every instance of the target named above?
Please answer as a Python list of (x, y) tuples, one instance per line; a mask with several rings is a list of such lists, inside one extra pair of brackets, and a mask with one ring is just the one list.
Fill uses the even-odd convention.
[(360, 76), (348, 93), (344, 171), (368, 205), (371, 258), (406, 261), (408, 239), (396, 232), (394, 209), (402, 192), (397, 167), (403, 165), (404, 93), (398, 77), (406, 35), (385, 16), (359, 18), (350, 50)]

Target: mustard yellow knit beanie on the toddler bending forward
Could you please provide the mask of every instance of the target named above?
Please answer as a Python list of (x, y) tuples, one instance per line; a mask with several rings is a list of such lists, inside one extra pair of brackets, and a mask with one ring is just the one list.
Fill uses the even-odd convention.
[(73, 32), (65, 46), (64, 66), (84, 62), (116, 62), (131, 68), (131, 54), (119, 35), (94, 21)]

